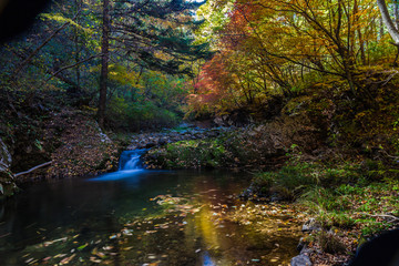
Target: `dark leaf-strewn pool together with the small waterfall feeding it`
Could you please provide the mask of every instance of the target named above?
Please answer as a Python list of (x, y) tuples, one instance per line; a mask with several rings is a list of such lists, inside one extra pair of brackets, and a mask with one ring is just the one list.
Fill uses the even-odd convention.
[(22, 187), (0, 206), (0, 265), (288, 265), (297, 255), (289, 214), (263, 205), (256, 219), (237, 216), (260, 208), (236, 198), (249, 174), (144, 170), (144, 152), (123, 152), (114, 173)]

